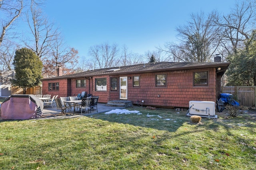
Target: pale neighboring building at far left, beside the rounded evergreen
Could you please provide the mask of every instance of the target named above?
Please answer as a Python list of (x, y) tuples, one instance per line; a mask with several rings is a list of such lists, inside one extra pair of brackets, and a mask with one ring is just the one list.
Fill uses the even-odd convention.
[(12, 80), (14, 78), (15, 71), (2, 71), (0, 74), (0, 97), (11, 96), (12, 93)]

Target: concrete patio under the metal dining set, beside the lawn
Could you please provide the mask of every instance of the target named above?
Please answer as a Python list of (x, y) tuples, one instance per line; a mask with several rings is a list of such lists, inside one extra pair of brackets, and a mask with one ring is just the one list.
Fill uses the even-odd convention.
[(56, 109), (56, 107), (44, 107), (43, 110), (43, 115), (42, 117), (38, 118), (38, 119), (63, 119), (63, 118), (72, 118), (72, 117), (80, 117), (80, 116), (84, 116), (84, 115), (94, 115), (97, 113), (104, 113), (113, 109), (124, 109), (125, 106), (106, 106), (106, 104), (104, 103), (98, 103), (98, 112), (96, 110), (91, 111), (88, 114), (88, 111), (86, 110), (85, 112), (82, 113), (80, 111), (76, 111), (76, 113), (74, 114), (74, 110), (72, 108), (72, 110), (67, 110), (66, 113), (67, 114), (61, 114), (61, 110), (60, 109)]

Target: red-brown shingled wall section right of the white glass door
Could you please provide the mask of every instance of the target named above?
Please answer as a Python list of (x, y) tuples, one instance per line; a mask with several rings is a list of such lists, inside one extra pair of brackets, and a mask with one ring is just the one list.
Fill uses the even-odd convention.
[(157, 73), (167, 74), (166, 88), (155, 86), (156, 73), (140, 74), (140, 88), (133, 88), (132, 79), (128, 80), (128, 100), (133, 104), (136, 104), (137, 100), (140, 102), (144, 100), (144, 105), (164, 107), (188, 107), (191, 100), (215, 102), (216, 76), (214, 69), (208, 71), (210, 72), (208, 87), (193, 87), (193, 70)]

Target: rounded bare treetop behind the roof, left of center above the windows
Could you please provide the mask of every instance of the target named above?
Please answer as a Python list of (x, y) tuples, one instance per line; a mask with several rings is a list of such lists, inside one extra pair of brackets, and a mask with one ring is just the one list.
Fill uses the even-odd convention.
[(109, 45), (108, 43), (104, 43), (91, 46), (88, 55), (92, 57), (92, 63), (94, 63), (93, 69), (118, 66), (121, 60), (121, 58), (118, 57), (118, 52), (119, 49), (116, 44)]

